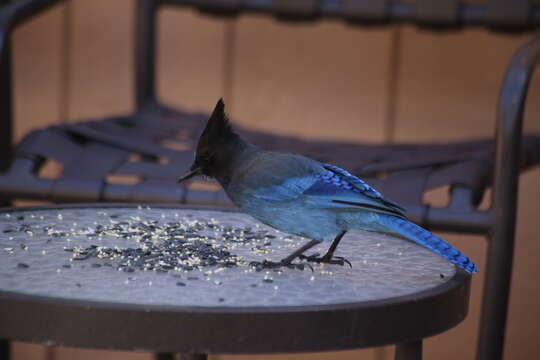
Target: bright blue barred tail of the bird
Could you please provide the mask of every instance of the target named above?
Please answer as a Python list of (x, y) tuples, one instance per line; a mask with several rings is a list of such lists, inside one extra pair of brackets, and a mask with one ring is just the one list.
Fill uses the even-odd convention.
[(392, 215), (379, 215), (379, 221), (392, 232), (430, 249), (468, 273), (478, 272), (478, 267), (461, 251), (426, 229)]

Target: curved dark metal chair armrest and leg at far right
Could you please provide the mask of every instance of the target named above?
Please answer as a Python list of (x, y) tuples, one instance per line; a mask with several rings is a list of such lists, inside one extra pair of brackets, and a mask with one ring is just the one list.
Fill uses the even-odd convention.
[(500, 359), (503, 353), (512, 277), (523, 112), (529, 82), (540, 61), (540, 36), (512, 57), (497, 109), (497, 149), (491, 209), (491, 234), (485, 270), (478, 359)]

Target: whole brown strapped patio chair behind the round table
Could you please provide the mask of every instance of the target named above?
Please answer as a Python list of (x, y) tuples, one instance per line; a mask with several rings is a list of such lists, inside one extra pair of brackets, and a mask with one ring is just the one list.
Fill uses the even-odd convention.
[[(540, 26), (540, 6), (527, 0), (490, 0), (486, 4), (457, 0), (138, 0), (135, 113), (35, 130), (14, 146), (10, 34), (14, 27), (60, 1), (20, 0), (0, 9), (0, 197), (5, 205), (15, 198), (230, 204), (218, 188), (175, 182), (179, 171), (193, 159), (193, 145), (207, 115), (172, 109), (156, 99), (154, 56), (160, 6), (190, 6), (228, 17), (263, 13), (293, 22), (337, 18), (357, 27), (413, 23), (433, 31), (479, 26), (515, 33)], [(521, 135), (528, 84), (539, 56), (540, 37), (536, 37), (510, 60), (500, 90), (494, 141), (365, 145), (304, 141), (237, 128), (266, 148), (306, 154), (352, 170), (402, 203), (413, 221), (431, 230), (484, 235), (489, 247), (483, 269), (486, 281), (477, 358), (501, 359), (518, 173), (540, 161), (540, 137)], [(62, 173), (54, 179), (40, 177), (39, 169), (51, 159), (63, 165)], [(126, 177), (131, 184), (117, 181)], [(425, 204), (424, 193), (443, 185), (450, 186), (448, 205)], [(493, 187), (491, 207), (480, 210), (488, 187)], [(4, 347), (7, 349), (5, 343)]]

